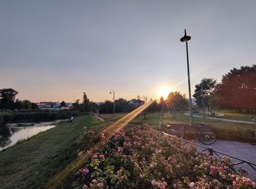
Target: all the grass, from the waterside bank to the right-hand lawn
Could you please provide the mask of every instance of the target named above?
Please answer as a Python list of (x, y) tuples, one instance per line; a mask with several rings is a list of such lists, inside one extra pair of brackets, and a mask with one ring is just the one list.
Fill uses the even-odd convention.
[[(60, 123), (55, 128), (37, 134), (1, 152), (1, 188), (46, 188), (53, 183), (53, 188), (57, 188), (63, 185), (73, 171), (84, 163), (83, 157), (77, 158), (78, 151), (89, 150), (93, 137), (102, 128), (109, 126), (111, 122), (124, 115), (126, 114), (119, 113), (114, 117), (113, 115), (101, 115), (107, 122), (102, 122), (93, 115), (75, 117), (75, 123)], [(163, 115), (147, 113), (145, 120), (142, 113), (131, 123), (138, 125), (148, 123), (157, 128), (160, 121), (163, 123), (188, 122), (189, 116), (182, 112), (177, 112), (176, 115), (170, 112)], [(200, 117), (195, 117), (195, 122), (210, 125), (217, 139), (243, 141), (244, 132), (247, 129), (255, 129), (249, 124), (229, 123)]]

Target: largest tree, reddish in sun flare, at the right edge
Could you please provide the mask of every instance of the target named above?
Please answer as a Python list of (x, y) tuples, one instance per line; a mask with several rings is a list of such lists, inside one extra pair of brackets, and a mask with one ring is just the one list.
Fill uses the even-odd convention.
[(222, 98), (222, 106), (252, 112), (256, 109), (256, 65), (231, 69), (214, 93)]

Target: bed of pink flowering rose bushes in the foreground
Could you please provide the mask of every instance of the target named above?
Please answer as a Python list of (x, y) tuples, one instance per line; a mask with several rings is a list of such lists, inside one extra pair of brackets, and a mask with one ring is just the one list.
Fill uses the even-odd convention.
[(144, 124), (113, 136), (74, 176), (72, 188), (255, 188), (230, 160), (184, 147)]

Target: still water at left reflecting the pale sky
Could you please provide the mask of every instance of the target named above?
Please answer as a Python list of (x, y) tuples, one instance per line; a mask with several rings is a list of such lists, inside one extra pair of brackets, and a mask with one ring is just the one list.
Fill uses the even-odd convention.
[(46, 131), (55, 126), (42, 126), (40, 124), (26, 127), (4, 127), (0, 128), (0, 151), (16, 144), (19, 140), (28, 139), (39, 132)]

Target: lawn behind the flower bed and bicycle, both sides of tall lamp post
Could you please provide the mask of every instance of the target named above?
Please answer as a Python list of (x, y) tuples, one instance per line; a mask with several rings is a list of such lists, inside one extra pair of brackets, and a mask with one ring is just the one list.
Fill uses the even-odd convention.
[[(161, 119), (162, 117), (162, 119)], [(173, 113), (148, 113), (147, 119), (145, 120), (143, 115), (140, 115), (132, 120), (134, 124), (142, 124), (148, 123), (152, 126), (157, 128), (159, 122), (162, 123), (178, 123), (186, 121), (189, 122), (189, 116), (184, 115), (182, 112), (176, 112), (176, 115)], [(233, 140), (233, 141), (244, 141), (244, 134), (247, 130), (256, 130), (255, 126), (245, 124), (245, 123), (232, 123), (226, 122), (222, 120), (209, 120), (203, 117), (194, 117), (195, 123), (206, 123), (213, 129), (214, 133), (217, 136), (217, 139), (224, 139), (224, 140)]]

